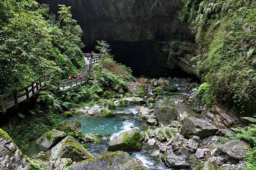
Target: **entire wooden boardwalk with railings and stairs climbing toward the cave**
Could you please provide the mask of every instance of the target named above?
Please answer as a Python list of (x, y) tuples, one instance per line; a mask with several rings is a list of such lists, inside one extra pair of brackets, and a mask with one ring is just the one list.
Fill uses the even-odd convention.
[[(64, 90), (65, 88), (72, 88), (78, 84), (84, 83), (90, 72), (90, 65), (97, 62), (101, 57), (100, 54), (94, 54), (94, 56), (95, 57), (90, 58), (90, 60), (87, 60), (87, 56), (84, 56), (85, 64), (83, 65), (81, 77), (67, 82), (52, 80), (52, 82), (55, 83), (54, 85), (58, 86), (60, 90)], [(44, 76), (41, 76), (26, 87), (0, 95), (0, 113), (5, 113), (7, 109), (12, 107), (18, 108), (19, 103), (21, 102), (29, 102), (30, 98), (35, 97), (36, 93), (44, 86), (43, 79)]]

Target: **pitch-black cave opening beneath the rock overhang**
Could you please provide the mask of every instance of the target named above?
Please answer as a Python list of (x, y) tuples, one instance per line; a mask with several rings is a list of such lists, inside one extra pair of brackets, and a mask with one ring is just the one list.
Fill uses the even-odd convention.
[[(154, 41), (111, 41), (111, 53), (114, 54), (114, 60), (118, 63), (130, 67), (133, 76), (139, 77), (145, 75), (150, 78), (158, 77), (177, 77), (177, 78), (195, 78), (181, 69), (175, 62), (168, 61), (168, 53), (162, 51), (162, 47)], [(91, 47), (84, 49), (84, 52), (95, 49), (96, 42)]]

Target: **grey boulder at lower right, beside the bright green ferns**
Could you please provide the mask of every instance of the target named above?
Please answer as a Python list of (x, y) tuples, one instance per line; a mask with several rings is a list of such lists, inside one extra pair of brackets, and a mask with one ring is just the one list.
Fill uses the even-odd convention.
[(215, 156), (220, 156), (224, 163), (231, 162), (237, 164), (242, 160), (249, 147), (249, 143), (244, 140), (235, 140), (220, 146), (214, 153)]

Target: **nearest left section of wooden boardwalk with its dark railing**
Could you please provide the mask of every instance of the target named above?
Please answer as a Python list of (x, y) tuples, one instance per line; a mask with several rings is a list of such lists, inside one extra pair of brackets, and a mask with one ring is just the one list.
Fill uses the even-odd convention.
[(42, 83), (43, 78), (44, 76), (41, 76), (26, 87), (15, 89), (10, 93), (0, 95), (0, 112), (11, 107), (18, 108), (19, 103), (23, 101), (30, 101), (30, 98), (34, 97), (42, 86), (44, 86)]

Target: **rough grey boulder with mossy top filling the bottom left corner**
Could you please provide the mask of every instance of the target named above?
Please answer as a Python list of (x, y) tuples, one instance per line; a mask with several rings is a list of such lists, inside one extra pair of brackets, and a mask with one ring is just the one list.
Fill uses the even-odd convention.
[(31, 164), (9, 135), (0, 129), (0, 169), (1, 170), (39, 170)]

